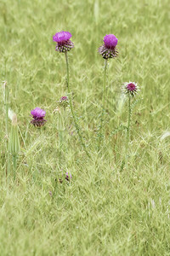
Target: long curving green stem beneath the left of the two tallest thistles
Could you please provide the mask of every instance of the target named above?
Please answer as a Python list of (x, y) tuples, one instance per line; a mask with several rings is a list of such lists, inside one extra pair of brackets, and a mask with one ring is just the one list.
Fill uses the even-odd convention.
[(69, 94), (69, 105), (70, 105), (70, 108), (71, 108), (72, 118), (73, 118), (76, 130), (77, 130), (78, 137), (79, 137), (80, 142), (82, 144), (82, 148), (84, 149), (84, 152), (88, 155), (88, 157), (91, 158), (90, 154), (88, 154), (88, 150), (86, 149), (85, 144), (83, 143), (82, 135), (81, 135), (79, 126), (77, 124), (77, 118), (76, 118), (76, 115), (75, 115), (73, 107), (72, 107), (71, 89), (70, 89), (70, 83), (69, 83), (69, 60), (68, 60), (67, 51), (65, 51), (65, 61), (66, 61), (66, 73), (67, 73), (66, 84), (67, 84), (67, 90), (68, 90), (68, 94)]

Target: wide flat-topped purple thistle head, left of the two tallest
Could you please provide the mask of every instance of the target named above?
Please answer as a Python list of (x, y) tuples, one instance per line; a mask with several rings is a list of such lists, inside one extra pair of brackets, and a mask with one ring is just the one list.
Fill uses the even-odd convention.
[(70, 32), (65, 32), (65, 31), (57, 32), (53, 36), (54, 42), (57, 43), (55, 50), (59, 52), (64, 52), (64, 53), (66, 51), (70, 51), (74, 47), (74, 44), (70, 40), (71, 37), (72, 35)]

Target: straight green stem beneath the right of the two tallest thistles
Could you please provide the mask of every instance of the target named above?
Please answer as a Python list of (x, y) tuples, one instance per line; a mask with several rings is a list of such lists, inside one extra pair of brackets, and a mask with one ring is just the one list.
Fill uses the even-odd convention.
[(103, 136), (103, 122), (104, 122), (104, 113), (105, 113), (106, 71), (107, 71), (107, 60), (105, 59), (105, 64), (104, 64), (104, 84), (103, 84), (103, 96), (102, 96), (102, 113), (101, 113), (100, 126), (99, 126), (99, 144), (98, 144), (98, 150), (100, 149), (100, 146), (101, 146), (101, 138), (102, 138), (102, 136)]

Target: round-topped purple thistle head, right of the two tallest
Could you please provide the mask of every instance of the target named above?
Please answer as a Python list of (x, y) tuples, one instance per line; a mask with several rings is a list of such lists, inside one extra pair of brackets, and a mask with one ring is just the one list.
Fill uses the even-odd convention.
[(116, 49), (118, 39), (115, 35), (109, 34), (104, 37), (104, 44), (99, 47), (99, 54), (106, 60), (116, 58), (118, 51)]

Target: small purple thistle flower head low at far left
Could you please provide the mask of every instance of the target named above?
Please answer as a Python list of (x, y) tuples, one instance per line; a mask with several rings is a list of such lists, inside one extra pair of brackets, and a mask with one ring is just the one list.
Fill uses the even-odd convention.
[(31, 110), (31, 115), (33, 119), (31, 120), (31, 124), (37, 127), (43, 126), (47, 120), (43, 119), (45, 117), (45, 110), (42, 108), (34, 108)]

